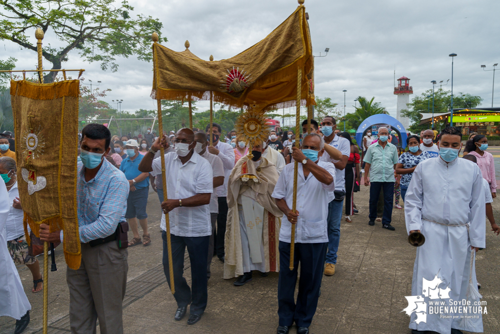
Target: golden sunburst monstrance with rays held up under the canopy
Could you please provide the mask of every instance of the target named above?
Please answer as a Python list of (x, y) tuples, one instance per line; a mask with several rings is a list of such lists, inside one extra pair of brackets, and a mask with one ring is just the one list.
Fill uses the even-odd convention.
[[(270, 119), (262, 113), (247, 111), (238, 117), (235, 125), (236, 133), (247, 145), (266, 142), (270, 132)], [(251, 155), (249, 150), (249, 156)]]

